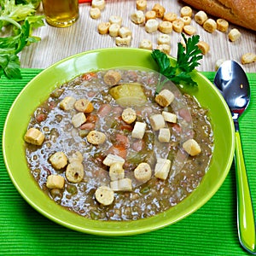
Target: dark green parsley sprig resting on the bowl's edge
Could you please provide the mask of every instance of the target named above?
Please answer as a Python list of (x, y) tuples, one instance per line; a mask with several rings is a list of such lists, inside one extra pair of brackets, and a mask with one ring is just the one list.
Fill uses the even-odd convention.
[[(159, 67), (159, 72), (167, 79), (172, 80), (175, 84), (196, 86), (197, 83), (191, 78), (191, 72), (195, 67), (199, 66), (202, 59), (201, 49), (198, 48), (200, 37), (198, 35), (192, 38), (185, 38), (182, 34), (186, 47), (183, 44), (177, 44), (177, 61), (175, 66), (171, 65), (171, 61), (165, 53), (159, 49), (152, 51), (152, 57)], [(156, 93), (159, 93), (163, 83), (158, 84)]]

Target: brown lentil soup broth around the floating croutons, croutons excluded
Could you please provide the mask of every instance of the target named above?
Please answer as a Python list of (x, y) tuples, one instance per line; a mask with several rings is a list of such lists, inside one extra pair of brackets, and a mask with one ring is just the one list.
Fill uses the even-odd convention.
[[(135, 220), (166, 211), (198, 187), (212, 156), (213, 137), (207, 109), (201, 108), (194, 97), (182, 96), (181, 102), (185, 102), (188, 107), (176, 110), (177, 124), (167, 124), (172, 134), (170, 143), (159, 143), (157, 132), (150, 127), (149, 116), (163, 110), (175, 113), (173, 104), (162, 108), (154, 102), (159, 73), (135, 70), (119, 72), (122, 74), (119, 84), (143, 84), (147, 102), (143, 106), (132, 107), (137, 112), (137, 121), (147, 123), (142, 140), (132, 138), (134, 124), (127, 125), (120, 118), (125, 107), (119, 106), (109, 94), (110, 86), (103, 81), (106, 71), (85, 73), (62, 84), (36, 109), (28, 125), (28, 128), (38, 128), (45, 136), (42, 146), (26, 143), (26, 159), (32, 176), (53, 201), (86, 218)], [(92, 145), (86, 140), (88, 130), (83, 130), (82, 126), (73, 127), (71, 118), (77, 112), (76, 109), (65, 111), (59, 108), (61, 100), (66, 96), (86, 98), (93, 103), (94, 110), (86, 114), (86, 118), (94, 124), (94, 130), (105, 133), (105, 143)], [(188, 109), (190, 115), (187, 114)], [(191, 136), (201, 145), (201, 154), (189, 156), (183, 151), (181, 142)], [(50, 164), (50, 155), (57, 151), (64, 152), (67, 158), (76, 151), (83, 155), (84, 178), (80, 183), (68, 182), (65, 170), (55, 170)], [(125, 177), (131, 178), (132, 191), (114, 192), (113, 203), (102, 206), (96, 201), (95, 192), (102, 185), (109, 186), (108, 166), (102, 163), (108, 154), (119, 154), (125, 158)], [(166, 180), (154, 177), (157, 157), (168, 158), (172, 162)], [(146, 183), (138, 183), (133, 175), (134, 169), (141, 162), (148, 162), (153, 170), (152, 177)], [(46, 181), (50, 174), (65, 177), (65, 188), (47, 188)]]

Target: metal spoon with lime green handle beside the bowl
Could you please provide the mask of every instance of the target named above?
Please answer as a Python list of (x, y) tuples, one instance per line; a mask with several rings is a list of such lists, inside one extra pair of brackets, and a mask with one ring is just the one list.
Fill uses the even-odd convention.
[(238, 118), (250, 102), (250, 87), (246, 73), (236, 61), (224, 61), (218, 68), (214, 84), (230, 107), (235, 124), (235, 163), (237, 194), (237, 228), (241, 246), (256, 254), (255, 221), (253, 204), (243, 159)]

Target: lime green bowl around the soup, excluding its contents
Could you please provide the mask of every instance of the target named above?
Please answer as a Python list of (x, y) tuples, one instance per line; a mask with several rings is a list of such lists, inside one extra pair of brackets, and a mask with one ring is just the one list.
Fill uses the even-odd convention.
[[(174, 60), (172, 60), (174, 61)], [(23, 136), (31, 114), (46, 100), (56, 85), (73, 79), (80, 73), (112, 67), (137, 66), (157, 70), (151, 52), (144, 49), (96, 49), (73, 55), (46, 68), (20, 92), (9, 110), (3, 130), (3, 155), (9, 177), (20, 195), (38, 212), (72, 230), (102, 236), (128, 236), (158, 230), (189, 216), (209, 201), (224, 182), (232, 164), (235, 143), (230, 110), (223, 97), (201, 73), (193, 72), (199, 84), (190, 93), (208, 108), (214, 132), (214, 148), (210, 168), (201, 184), (176, 207), (154, 217), (135, 221), (99, 221), (68, 212), (51, 201), (38, 188), (28, 166)]]

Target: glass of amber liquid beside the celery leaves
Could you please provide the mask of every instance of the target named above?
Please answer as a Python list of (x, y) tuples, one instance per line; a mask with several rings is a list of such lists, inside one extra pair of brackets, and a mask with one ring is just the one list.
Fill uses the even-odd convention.
[(79, 19), (79, 0), (43, 0), (43, 9), (50, 26), (71, 26)]

